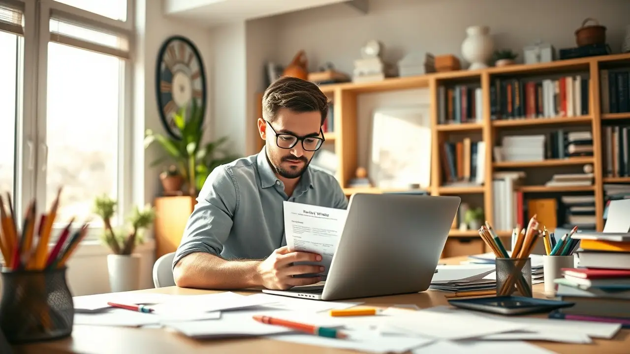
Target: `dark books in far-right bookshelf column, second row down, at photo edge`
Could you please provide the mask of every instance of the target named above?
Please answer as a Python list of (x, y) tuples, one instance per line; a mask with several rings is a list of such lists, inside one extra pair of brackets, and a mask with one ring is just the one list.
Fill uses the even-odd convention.
[(628, 127), (614, 125), (602, 127), (604, 174), (607, 177), (630, 176), (628, 161)]

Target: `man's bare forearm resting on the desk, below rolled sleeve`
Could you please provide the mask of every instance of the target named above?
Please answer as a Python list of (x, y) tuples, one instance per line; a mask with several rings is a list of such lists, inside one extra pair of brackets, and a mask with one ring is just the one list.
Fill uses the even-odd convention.
[(173, 270), (178, 287), (239, 289), (261, 287), (260, 261), (226, 261), (209, 253), (191, 253)]

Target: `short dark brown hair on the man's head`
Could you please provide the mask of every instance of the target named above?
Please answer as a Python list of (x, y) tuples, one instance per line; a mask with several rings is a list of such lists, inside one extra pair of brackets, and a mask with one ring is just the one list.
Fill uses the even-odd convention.
[(273, 122), (280, 108), (299, 113), (319, 111), (323, 125), (328, 116), (328, 97), (311, 81), (283, 76), (265, 90), (263, 115), (268, 117), (269, 122)]

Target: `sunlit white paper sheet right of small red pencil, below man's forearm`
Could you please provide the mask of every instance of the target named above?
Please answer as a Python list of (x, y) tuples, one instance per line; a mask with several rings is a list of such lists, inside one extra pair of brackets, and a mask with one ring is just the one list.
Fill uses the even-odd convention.
[(220, 292), (204, 295), (179, 295), (151, 306), (160, 312), (214, 312), (242, 309), (272, 302), (265, 297), (255, 295), (240, 295), (234, 292)]

